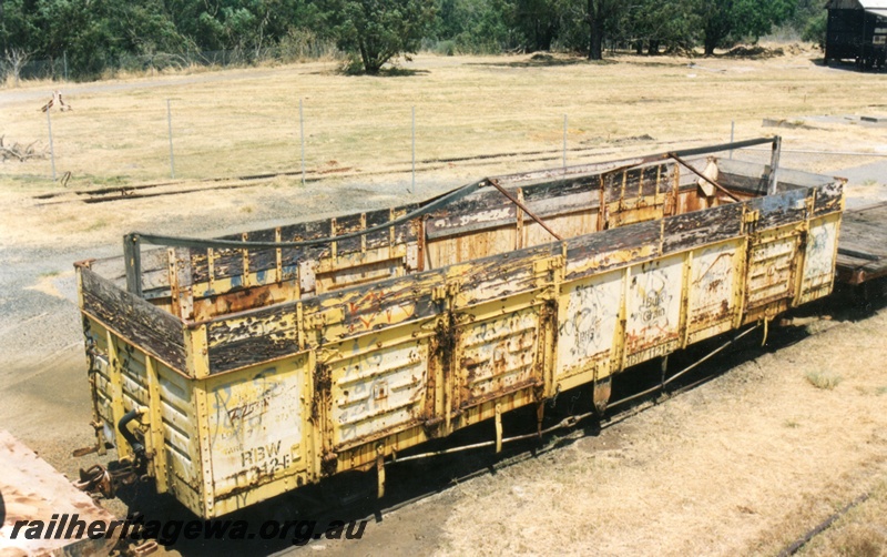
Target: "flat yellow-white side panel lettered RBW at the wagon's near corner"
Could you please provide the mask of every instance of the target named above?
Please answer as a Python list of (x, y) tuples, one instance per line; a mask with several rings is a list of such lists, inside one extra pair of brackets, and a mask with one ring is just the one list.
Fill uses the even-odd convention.
[(298, 356), (207, 382), (215, 498), (306, 468), (306, 362)]

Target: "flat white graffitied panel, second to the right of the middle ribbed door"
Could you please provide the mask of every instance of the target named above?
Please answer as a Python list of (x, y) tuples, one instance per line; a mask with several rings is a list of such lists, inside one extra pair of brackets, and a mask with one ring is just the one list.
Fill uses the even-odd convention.
[(649, 359), (651, 348), (677, 341), (683, 272), (683, 255), (657, 259), (632, 269), (625, 301), (625, 352), (629, 355), (625, 365)]

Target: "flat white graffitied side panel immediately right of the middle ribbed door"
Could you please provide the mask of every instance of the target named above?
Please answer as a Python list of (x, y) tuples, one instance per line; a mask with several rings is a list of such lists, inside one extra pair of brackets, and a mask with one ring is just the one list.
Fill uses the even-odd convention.
[(623, 278), (622, 270), (611, 271), (562, 286), (555, 379), (610, 359), (619, 328)]

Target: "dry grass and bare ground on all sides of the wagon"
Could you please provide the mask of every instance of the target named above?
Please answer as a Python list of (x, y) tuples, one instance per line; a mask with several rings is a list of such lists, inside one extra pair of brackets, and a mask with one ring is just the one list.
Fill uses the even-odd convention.
[[(51, 113), (64, 184), (48, 178), (49, 160), (0, 163), (0, 427), (69, 474), (85, 464), (69, 456), (91, 437), (71, 263), (119, 253), (133, 230), (220, 234), (560, 166), (564, 114), (571, 164), (723, 143), (732, 121), (737, 139), (783, 135), (783, 162), (793, 168), (837, 172), (884, 160), (887, 128), (844, 117), (887, 115), (887, 75), (824, 68), (814, 51), (786, 50), (602, 63), (419, 55), (380, 78), (318, 62), (0, 89), (7, 144), (47, 143), (40, 108), (53, 89), (73, 107)], [(836, 118), (762, 126), (765, 118), (799, 124), (822, 115)], [(254, 174), (268, 175), (243, 180)], [(876, 176), (848, 191), (874, 199), (885, 183)], [(163, 195), (83, 203), (77, 193), (109, 188)], [(598, 436), (407, 506), (360, 543), (302, 551), (776, 555), (870, 493), (802, 554), (885, 555), (887, 311), (802, 328), (797, 344), (743, 359)]]

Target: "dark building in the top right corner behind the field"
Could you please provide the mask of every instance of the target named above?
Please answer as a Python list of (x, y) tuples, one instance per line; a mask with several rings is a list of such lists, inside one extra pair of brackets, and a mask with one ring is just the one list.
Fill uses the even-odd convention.
[(885, 67), (887, 0), (829, 0), (825, 62), (852, 60), (859, 68)]

